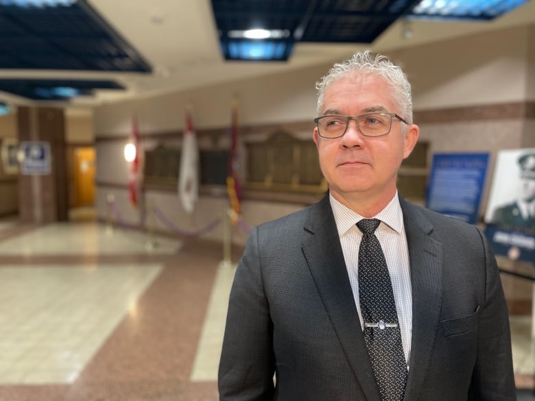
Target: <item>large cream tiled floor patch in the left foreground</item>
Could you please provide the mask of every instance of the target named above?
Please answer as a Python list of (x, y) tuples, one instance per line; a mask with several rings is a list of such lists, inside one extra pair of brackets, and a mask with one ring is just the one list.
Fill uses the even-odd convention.
[(0, 384), (73, 382), (160, 270), (3, 266)]

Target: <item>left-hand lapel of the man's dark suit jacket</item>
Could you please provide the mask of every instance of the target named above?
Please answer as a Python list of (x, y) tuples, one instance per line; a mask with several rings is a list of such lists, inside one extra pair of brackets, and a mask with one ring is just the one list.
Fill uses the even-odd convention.
[(334, 330), (369, 401), (380, 401), (329, 196), (310, 209), (302, 250)]

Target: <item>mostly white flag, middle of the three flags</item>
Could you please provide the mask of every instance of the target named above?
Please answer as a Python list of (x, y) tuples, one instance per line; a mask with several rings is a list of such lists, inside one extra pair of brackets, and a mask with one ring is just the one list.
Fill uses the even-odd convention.
[(191, 214), (199, 196), (199, 149), (189, 111), (186, 113), (186, 130), (182, 138), (178, 195), (184, 210)]

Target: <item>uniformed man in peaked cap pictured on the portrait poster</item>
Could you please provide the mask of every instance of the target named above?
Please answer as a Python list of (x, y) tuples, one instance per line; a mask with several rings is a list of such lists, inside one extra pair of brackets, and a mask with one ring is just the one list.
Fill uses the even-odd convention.
[(535, 154), (520, 156), (520, 185), (516, 200), (497, 208), (491, 223), (514, 230), (535, 232)]

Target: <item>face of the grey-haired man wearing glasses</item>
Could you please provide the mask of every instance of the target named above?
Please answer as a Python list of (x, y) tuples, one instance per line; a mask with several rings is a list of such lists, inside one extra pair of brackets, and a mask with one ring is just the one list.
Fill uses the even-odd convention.
[[(344, 77), (326, 89), (321, 115), (357, 116), (370, 111), (400, 114), (391, 91), (383, 77)], [(409, 125), (403, 135), (402, 124), (393, 118), (389, 134), (369, 137), (359, 132), (355, 121), (350, 121), (344, 136), (335, 139), (320, 137), (316, 127), (313, 138), (320, 167), (335, 199), (346, 206), (362, 199), (392, 199), (401, 161), (409, 156), (418, 140), (418, 127)]]

